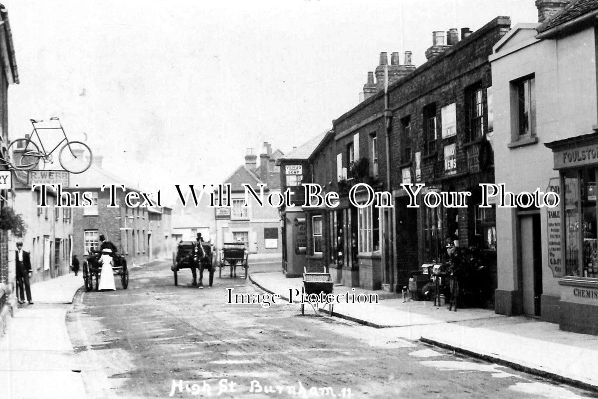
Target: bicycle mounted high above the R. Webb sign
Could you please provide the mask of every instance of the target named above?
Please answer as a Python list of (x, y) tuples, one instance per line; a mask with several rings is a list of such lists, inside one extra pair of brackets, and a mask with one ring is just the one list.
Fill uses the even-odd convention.
[[(70, 141), (66, 136), (65, 129), (62, 127), (59, 118), (53, 117), (49, 121), (30, 119), (33, 126), (33, 132), (31, 135), (25, 136), (12, 141), (8, 145), (8, 160), (4, 159), (3, 162), (9, 167), (13, 167), (16, 170), (31, 170), (38, 167), (39, 162), (42, 162), (40, 169), (44, 168), (46, 162), (53, 162), (52, 154), (57, 148), (60, 147), (66, 141), (66, 144), (60, 148), (58, 153), (58, 162), (67, 172), (71, 173), (83, 173), (91, 166), (92, 154), (87, 144), (80, 141)], [(54, 126), (51, 126), (51, 125)], [(60, 140), (56, 147), (52, 148), (51, 151), (47, 151), (44, 147), (44, 142), (39, 137), (38, 130), (61, 130), (64, 138)], [(33, 141), (33, 133), (37, 137), (39, 146)], [(39, 150), (41, 147), (41, 150)]]

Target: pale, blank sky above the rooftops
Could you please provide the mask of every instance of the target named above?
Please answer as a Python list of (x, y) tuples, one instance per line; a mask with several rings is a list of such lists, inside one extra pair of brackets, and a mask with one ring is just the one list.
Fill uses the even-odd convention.
[(419, 66), (432, 31), (538, 18), (534, 0), (3, 4), (20, 79), (10, 139), (57, 116), (104, 169), (166, 197), (174, 184), (221, 183), (247, 148), (289, 153), (331, 129), (381, 51), (412, 51)]

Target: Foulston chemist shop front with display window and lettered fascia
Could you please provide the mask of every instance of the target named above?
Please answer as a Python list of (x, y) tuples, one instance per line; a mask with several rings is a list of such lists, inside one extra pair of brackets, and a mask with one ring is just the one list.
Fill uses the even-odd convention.
[(545, 145), (553, 150), (561, 193), (558, 213), (548, 210), (560, 221), (552, 233), (560, 246), (552, 245), (550, 258), (560, 277), (560, 328), (598, 334), (598, 133)]

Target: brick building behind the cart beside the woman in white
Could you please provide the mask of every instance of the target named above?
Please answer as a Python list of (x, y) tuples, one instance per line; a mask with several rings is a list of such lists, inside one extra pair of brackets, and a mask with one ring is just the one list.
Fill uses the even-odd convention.
[[(140, 192), (125, 179), (102, 169), (102, 157), (95, 156), (86, 172), (71, 175), (68, 191), (91, 192), (93, 206), (72, 208), (73, 253), (83, 259), (90, 248), (99, 246), (99, 236), (116, 245), (130, 265), (142, 264), (157, 257), (169, 257), (172, 243), (172, 209), (168, 207), (129, 208), (124, 202), (127, 193)], [(108, 208), (109, 190), (102, 185), (124, 184), (126, 191), (116, 190), (116, 208)]]

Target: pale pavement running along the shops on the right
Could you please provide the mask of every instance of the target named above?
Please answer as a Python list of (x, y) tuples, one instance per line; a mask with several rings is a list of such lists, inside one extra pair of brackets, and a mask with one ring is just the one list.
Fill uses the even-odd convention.
[[(250, 269), (251, 270), (251, 269)], [(250, 273), (251, 281), (288, 301), (297, 297), (302, 278), (281, 272)], [(289, 292), (289, 290), (291, 290)], [(295, 291), (298, 290), (298, 291)], [(334, 286), (334, 294), (379, 294), (379, 303), (335, 303), (333, 316), (375, 328), (392, 329), (396, 337), (420, 340), (487, 361), (598, 390), (598, 336), (559, 330), (559, 325), (526, 316), (507, 317), (486, 309), (434, 306), (429, 301), (403, 300), (384, 291)], [(329, 308), (316, 306), (320, 312)], [(306, 304), (306, 312), (313, 312)]]

